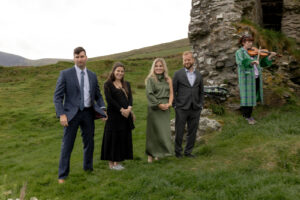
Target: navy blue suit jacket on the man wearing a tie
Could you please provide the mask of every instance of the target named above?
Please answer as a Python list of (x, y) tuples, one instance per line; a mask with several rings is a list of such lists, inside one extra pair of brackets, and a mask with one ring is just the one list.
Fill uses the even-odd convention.
[[(87, 73), (90, 83), (92, 107), (97, 113), (105, 116), (105, 113), (101, 109), (105, 108), (105, 103), (100, 93), (97, 76), (90, 70), (87, 70)], [(53, 101), (57, 117), (66, 114), (68, 121), (71, 121), (78, 112), (80, 105), (80, 86), (75, 67), (60, 72)]]

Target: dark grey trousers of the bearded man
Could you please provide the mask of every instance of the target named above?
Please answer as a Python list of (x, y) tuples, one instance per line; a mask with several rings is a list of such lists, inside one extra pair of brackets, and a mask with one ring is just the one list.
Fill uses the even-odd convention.
[(175, 109), (175, 112), (175, 154), (179, 155), (182, 152), (182, 140), (186, 123), (188, 133), (186, 136), (186, 146), (184, 149), (184, 154), (191, 154), (195, 145), (201, 110)]

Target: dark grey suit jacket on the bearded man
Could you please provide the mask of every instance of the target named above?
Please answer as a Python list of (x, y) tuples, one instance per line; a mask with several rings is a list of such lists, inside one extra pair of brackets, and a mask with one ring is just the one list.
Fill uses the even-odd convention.
[(204, 101), (203, 80), (198, 70), (195, 70), (195, 73), (195, 83), (191, 86), (184, 68), (175, 72), (173, 77), (174, 108), (182, 110), (202, 109)]

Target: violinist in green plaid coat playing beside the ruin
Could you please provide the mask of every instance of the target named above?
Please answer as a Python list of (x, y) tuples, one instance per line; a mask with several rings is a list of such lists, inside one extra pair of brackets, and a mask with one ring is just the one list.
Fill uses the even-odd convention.
[[(236, 63), (238, 65), (239, 89), (240, 89), (240, 106), (243, 117), (250, 125), (256, 123), (252, 117), (253, 107), (256, 102), (263, 103), (263, 79), (261, 67), (268, 67), (272, 64), (272, 58), (275, 52), (268, 52), (269, 56), (249, 55), (253, 38), (250, 35), (244, 35), (240, 38), (241, 48), (235, 53)], [(250, 51), (249, 51), (250, 52)]]

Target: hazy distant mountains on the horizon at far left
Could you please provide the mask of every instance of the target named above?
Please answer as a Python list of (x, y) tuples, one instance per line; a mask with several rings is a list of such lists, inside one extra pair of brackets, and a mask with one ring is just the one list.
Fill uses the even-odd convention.
[(2, 66), (41, 66), (55, 64), (58, 61), (69, 61), (68, 59), (44, 58), (30, 60), (22, 56), (5, 53), (0, 51), (0, 65)]

